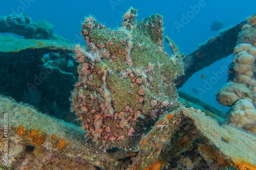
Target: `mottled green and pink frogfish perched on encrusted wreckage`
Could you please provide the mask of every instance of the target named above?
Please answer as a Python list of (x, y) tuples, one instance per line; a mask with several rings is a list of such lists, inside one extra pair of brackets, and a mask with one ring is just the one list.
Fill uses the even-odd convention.
[(159, 116), (180, 105), (174, 80), (183, 75), (176, 44), (166, 37), (159, 14), (136, 21), (130, 8), (122, 26), (112, 30), (92, 16), (82, 23), (89, 52), (75, 47), (79, 78), (72, 92), (73, 110), (90, 136), (92, 152), (134, 150)]

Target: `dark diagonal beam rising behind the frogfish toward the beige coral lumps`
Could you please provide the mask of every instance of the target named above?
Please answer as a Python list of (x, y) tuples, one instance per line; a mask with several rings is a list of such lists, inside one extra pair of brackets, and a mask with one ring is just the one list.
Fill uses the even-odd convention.
[(232, 54), (233, 48), (237, 44), (238, 34), (245, 23), (246, 21), (242, 21), (237, 26), (223, 30), (216, 37), (209, 38), (205, 43), (199, 45), (199, 48), (193, 53), (184, 55), (185, 76), (176, 80), (176, 87), (182, 87), (195, 72)]

